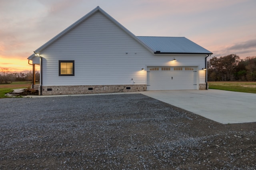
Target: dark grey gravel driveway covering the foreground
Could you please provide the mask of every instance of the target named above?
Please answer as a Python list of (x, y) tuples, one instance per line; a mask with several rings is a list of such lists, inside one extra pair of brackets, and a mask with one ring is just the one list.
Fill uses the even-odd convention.
[(256, 169), (256, 123), (142, 94), (0, 99), (0, 169)]

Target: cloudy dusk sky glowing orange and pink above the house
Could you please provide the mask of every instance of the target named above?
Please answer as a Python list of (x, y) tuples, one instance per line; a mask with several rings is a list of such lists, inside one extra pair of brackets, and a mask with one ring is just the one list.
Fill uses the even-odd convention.
[(100, 6), (136, 36), (186, 37), (256, 56), (256, 0), (0, 0), (0, 68), (32, 70), (33, 51)]

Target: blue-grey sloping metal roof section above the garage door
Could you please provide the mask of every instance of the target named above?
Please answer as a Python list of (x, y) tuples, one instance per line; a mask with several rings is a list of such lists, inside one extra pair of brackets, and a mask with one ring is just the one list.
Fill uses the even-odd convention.
[(137, 36), (155, 54), (212, 54), (185, 37), (142, 37)]

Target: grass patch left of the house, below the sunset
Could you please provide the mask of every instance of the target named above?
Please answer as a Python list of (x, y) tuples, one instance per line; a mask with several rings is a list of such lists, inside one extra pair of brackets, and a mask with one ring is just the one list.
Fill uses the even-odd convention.
[(12, 92), (16, 88), (28, 88), (32, 82), (12, 82), (11, 84), (0, 84), (0, 98), (8, 98), (4, 96), (6, 93)]

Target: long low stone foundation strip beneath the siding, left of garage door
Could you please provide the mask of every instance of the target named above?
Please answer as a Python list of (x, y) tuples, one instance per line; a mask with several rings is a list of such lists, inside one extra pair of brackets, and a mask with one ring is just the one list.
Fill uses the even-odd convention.
[[(84, 86), (42, 86), (42, 95), (60, 94), (96, 94), (116, 92), (142, 92), (147, 90), (146, 84), (138, 85), (84, 85)], [(39, 87), (40, 95), (40, 87)]]

